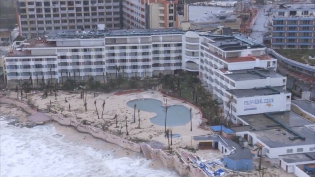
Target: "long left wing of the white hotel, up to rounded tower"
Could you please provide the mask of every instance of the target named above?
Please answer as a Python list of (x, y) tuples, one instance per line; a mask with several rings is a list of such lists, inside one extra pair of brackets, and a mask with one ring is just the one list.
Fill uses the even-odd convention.
[[(179, 29), (134, 29), (107, 32), (51, 32), (43, 39), (23, 42), (5, 57), (9, 84), (30, 75), (45, 82), (61, 82), (66, 72), (77, 79), (115, 77), (115, 65), (124, 77), (152, 76), (180, 69), (183, 31)], [(22, 49), (21, 49), (22, 48)], [(50, 68), (52, 73), (50, 73)], [(35, 77), (33, 77), (35, 79)], [(65, 80), (64, 80), (65, 81)]]

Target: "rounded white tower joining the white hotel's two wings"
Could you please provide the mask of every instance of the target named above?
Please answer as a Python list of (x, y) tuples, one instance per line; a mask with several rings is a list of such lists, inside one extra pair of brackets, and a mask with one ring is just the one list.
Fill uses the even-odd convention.
[(199, 35), (196, 32), (188, 31), (184, 35), (184, 58), (183, 68), (192, 71), (199, 71)]

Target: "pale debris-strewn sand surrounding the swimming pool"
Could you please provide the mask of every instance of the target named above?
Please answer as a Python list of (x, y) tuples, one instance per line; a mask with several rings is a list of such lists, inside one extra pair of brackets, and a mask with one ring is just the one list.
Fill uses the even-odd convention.
[[(16, 97), (15, 92), (10, 92), (9, 96), (12, 98)], [(114, 116), (117, 114), (118, 126), (123, 126), (120, 136), (129, 138), (126, 136), (126, 122), (125, 116), (128, 117), (128, 130), (130, 138), (139, 138), (143, 140), (156, 140), (162, 142), (164, 145), (167, 145), (167, 139), (164, 138), (164, 126), (153, 125), (150, 122), (150, 118), (154, 117), (156, 113), (151, 112), (140, 112), (140, 129), (138, 127), (138, 121), (136, 123), (131, 123), (132, 115), (134, 112), (133, 108), (127, 106), (127, 102), (134, 99), (141, 98), (154, 98), (160, 101), (163, 101), (165, 97), (163, 97), (158, 91), (146, 91), (142, 93), (131, 93), (127, 95), (116, 96), (113, 94), (104, 94), (99, 93), (94, 97), (94, 93), (88, 93), (87, 95), (87, 110), (84, 110), (83, 100), (80, 98), (80, 93), (70, 94), (68, 92), (58, 92), (57, 100), (55, 100), (55, 96), (48, 96), (48, 98), (41, 98), (42, 92), (40, 93), (32, 93), (32, 96), (28, 96), (34, 102), (39, 109), (47, 109), (50, 101), (52, 102), (52, 110), (57, 111), (58, 113), (63, 113), (68, 117), (75, 118), (80, 117), (92, 122), (96, 121), (97, 123), (108, 122), (109, 131), (112, 133), (118, 132), (120, 128), (115, 128), (115, 119)], [(67, 98), (67, 103), (65, 102), (65, 98)], [(98, 113), (102, 113), (102, 103), (105, 100), (105, 109), (104, 109), (104, 119), (98, 119), (96, 114), (96, 109), (94, 102), (97, 102)], [(188, 109), (192, 108), (192, 127), (193, 131), (190, 132), (190, 122), (183, 126), (175, 126), (173, 127), (173, 133), (180, 134), (180, 138), (173, 139), (173, 148), (178, 146), (185, 147), (186, 145), (191, 145), (191, 136), (196, 135), (205, 135), (211, 133), (211, 131), (206, 131), (200, 128), (197, 128), (199, 122), (201, 122), (201, 114), (200, 111), (194, 107), (191, 107), (189, 104), (182, 103), (179, 100), (167, 98), (167, 103), (170, 105), (183, 105)], [(71, 110), (69, 110), (69, 104), (71, 106)]]

